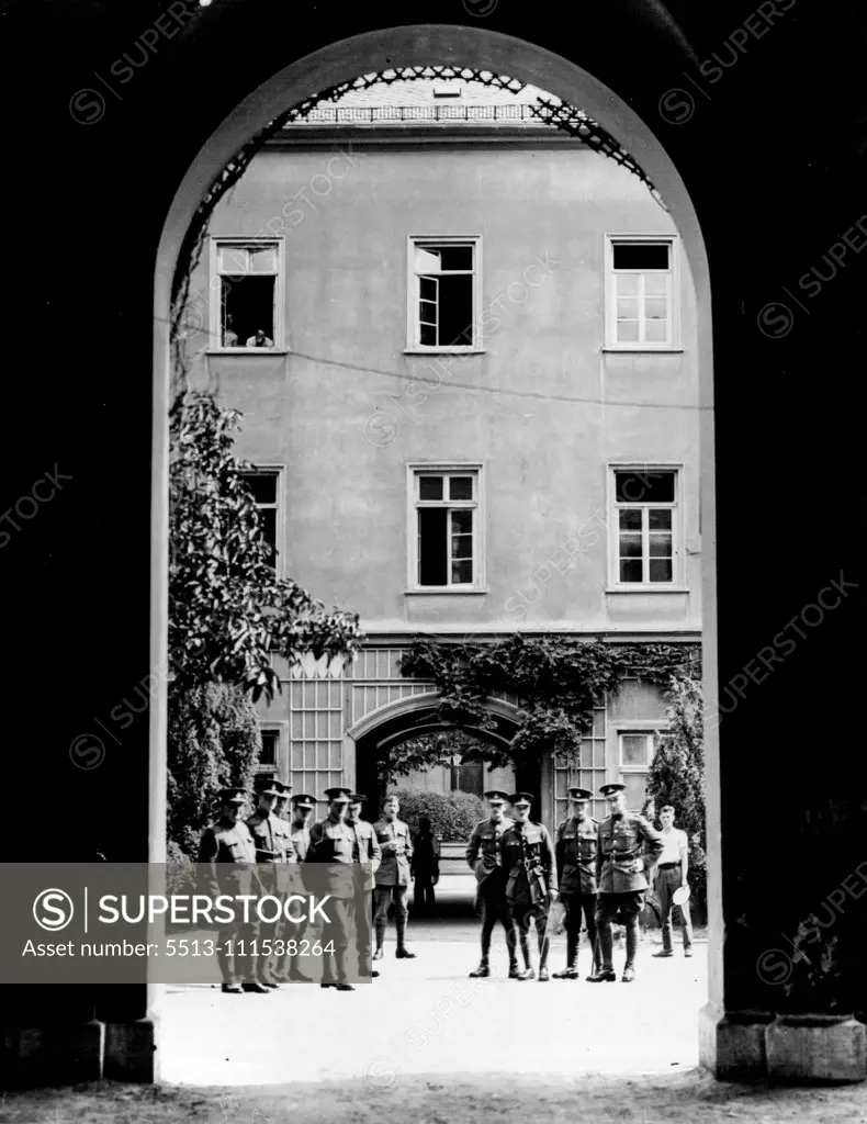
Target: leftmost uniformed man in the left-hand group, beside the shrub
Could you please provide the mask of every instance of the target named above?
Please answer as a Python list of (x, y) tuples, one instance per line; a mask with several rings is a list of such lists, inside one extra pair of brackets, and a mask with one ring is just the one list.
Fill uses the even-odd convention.
[[(211, 898), (220, 894), (235, 897), (240, 894), (262, 892), (256, 868), (256, 849), (241, 813), (246, 803), (242, 789), (225, 788), (219, 795), (219, 815), (216, 823), (206, 827), (199, 843), (201, 891)], [(258, 958), (253, 942), (259, 941), (259, 923), (243, 921), (225, 925), (217, 934), (217, 962), (223, 975), (223, 990), (227, 995), (253, 991), (267, 995), (268, 988), (259, 982)]]

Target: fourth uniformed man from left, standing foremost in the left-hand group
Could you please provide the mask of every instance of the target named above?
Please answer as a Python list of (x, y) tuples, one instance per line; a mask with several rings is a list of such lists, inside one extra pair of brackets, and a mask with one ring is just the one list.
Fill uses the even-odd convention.
[(334, 918), (323, 926), (323, 946), (334, 942), (334, 953), (323, 953), (320, 987), (333, 987), (337, 991), (354, 991), (347, 979), (349, 950), (349, 908), (354, 897), (354, 879), (351, 871), (346, 878), (340, 877), (342, 867), (352, 867), (352, 849), (355, 843), (355, 832), (346, 823), (346, 809), (350, 804), (351, 790), (347, 788), (327, 788), (325, 799), (328, 803), (328, 815), (310, 828), (310, 845), (305, 856), (305, 863), (327, 863), (329, 865), (327, 881), (331, 900), (327, 910)]

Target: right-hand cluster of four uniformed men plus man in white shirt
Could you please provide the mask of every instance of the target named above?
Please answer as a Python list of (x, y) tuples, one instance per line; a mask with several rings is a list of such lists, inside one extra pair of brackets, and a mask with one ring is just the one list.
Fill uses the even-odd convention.
[[(670, 806), (661, 809), (661, 832), (643, 816), (627, 812), (625, 785), (603, 785), (599, 795), (607, 799), (609, 812), (602, 823), (588, 813), (593, 794), (584, 788), (569, 789), (569, 816), (557, 828), (554, 842), (543, 824), (530, 818), (532, 794), (507, 796), (496, 790), (485, 794), (489, 816), (476, 826), (467, 847), (467, 861), (478, 882), (481, 913), (481, 961), (470, 972), (471, 977), (490, 976), (491, 936), (500, 922), (506, 932), (509, 978), (545, 982), (550, 978), (551, 908), (559, 897), (567, 962), (561, 971), (553, 973), (554, 979), (580, 978), (578, 944), (584, 915), (593, 950), (588, 981), (599, 984), (617, 978), (613, 962), (616, 922), (624, 926), (626, 935), (621, 979), (624, 984), (632, 982), (649, 879), (657, 889), (662, 915), (663, 946), (654, 955), (674, 954), (671, 912), (675, 890), (687, 886), (686, 833), (674, 827)], [(512, 805), (514, 819), (505, 815), (507, 803)], [(684, 952), (688, 957), (692, 955), (689, 910), (685, 901), (679, 908)], [(539, 944), (538, 971), (530, 949), (531, 925), (535, 927)], [(518, 946), (523, 968), (518, 964)]]

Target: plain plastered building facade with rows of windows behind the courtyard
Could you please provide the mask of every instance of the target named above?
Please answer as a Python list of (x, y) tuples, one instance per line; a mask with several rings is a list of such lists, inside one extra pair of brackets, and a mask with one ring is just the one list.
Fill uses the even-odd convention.
[[(689, 264), (647, 187), (541, 124), (540, 96), (353, 92), (285, 127), (210, 221), (196, 377), (244, 414), (276, 565), (368, 637), (338, 673), (285, 668), (262, 708), (262, 768), (297, 791), (369, 792), (378, 753), (435, 728), (397, 667), (419, 634), (699, 638)], [(507, 742), (515, 701), (491, 706)], [(622, 779), (640, 807), (663, 722), (649, 683), (600, 700), (581, 769), (542, 770), (542, 818), (569, 783)]]

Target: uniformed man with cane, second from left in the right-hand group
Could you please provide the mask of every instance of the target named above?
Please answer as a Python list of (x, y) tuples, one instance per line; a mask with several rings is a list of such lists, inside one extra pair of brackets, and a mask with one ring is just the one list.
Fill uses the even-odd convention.
[(548, 980), (548, 913), (557, 898), (557, 856), (551, 833), (530, 818), (535, 798), (515, 792), (511, 798), (514, 824), (503, 833), (500, 850), (506, 870), (506, 900), (521, 939), (524, 971), (516, 979), (535, 979), (530, 957), (530, 923), (535, 922), (539, 940), (539, 980)]

